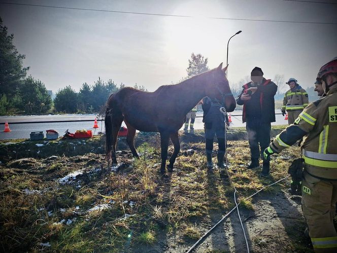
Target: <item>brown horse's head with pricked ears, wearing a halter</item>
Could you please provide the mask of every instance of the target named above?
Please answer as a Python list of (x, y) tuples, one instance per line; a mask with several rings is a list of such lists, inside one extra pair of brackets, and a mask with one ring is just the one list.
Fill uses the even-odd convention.
[(226, 78), (226, 70), (228, 65), (222, 69), (222, 63), (218, 68), (209, 71), (210, 77), (205, 86), (205, 93), (207, 97), (216, 98), (221, 101), (227, 112), (232, 112), (237, 104), (230, 90), (228, 80)]

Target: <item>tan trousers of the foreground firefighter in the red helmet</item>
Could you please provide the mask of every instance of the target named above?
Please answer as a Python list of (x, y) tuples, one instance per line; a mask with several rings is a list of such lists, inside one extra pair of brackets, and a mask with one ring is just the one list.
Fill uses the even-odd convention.
[(337, 181), (325, 181), (304, 172), (302, 209), (315, 252), (337, 252), (333, 226), (337, 202)]

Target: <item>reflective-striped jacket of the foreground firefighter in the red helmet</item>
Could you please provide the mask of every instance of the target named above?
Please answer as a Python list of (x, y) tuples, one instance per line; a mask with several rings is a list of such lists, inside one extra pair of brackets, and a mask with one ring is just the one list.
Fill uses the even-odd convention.
[(303, 136), (306, 171), (320, 179), (337, 179), (337, 85), (307, 106), (269, 147), (279, 153)]

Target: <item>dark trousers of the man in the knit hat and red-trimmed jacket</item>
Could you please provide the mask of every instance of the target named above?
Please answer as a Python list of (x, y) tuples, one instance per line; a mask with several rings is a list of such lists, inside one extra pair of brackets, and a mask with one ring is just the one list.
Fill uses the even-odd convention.
[(247, 121), (246, 129), (252, 161), (263, 157), (263, 151), (271, 142), (271, 123)]

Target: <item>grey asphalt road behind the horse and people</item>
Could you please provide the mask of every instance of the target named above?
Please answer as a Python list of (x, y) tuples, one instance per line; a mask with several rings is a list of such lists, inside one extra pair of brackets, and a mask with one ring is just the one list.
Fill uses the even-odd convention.
[[(279, 113), (279, 110), (276, 111)], [(245, 127), (245, 123), (242, 123), (242, 111), (234, 111), (231, 116), (232, 122), (230, 127)], [(235, 116), (240, 115), (240, 116)], [(197, 112), (197, 118), (194, 122), (194, 129), (203, 129), (203, 112)], [(6, 116), (0, 117), (0, 139), (9, 140), (9, 139), (21, 139), (21, 138), (30, 138), (31, 132), (44, 131), (44, 136), (46, 136), (46, 130), (53, 129), (58, 131), (60, 136), (63, 136), (65, 131), (68, 129), (69, 132), (75, 133), (76, 130), (86, 129), (91, 130), (94, 135), (97, 135), (98, 132), (105, 132), (104, 121), (98, 121), (98, 129), (93, 128), (94, 119), (97, 117), (95, 114), (67, 114), (67, 115), (29, 115), (29, 116)], [(97, 117), (99, 120), (99, 118)], [(80, 122), (55, 122), (55, 121), (71, 121), (71, 120), (88, 120)], [(4, 123), (8, 121), (9, 127), (12, 130), (9, 133), (4, 133)], [(46, 123), (39, 123), (45, 122)], [(54, 122), (53, 122), (54, 121)], [(18, 123), (20, 122), (20, 123)], [(21, 123), (23, 122), (23, 123)], [(24, 123), (26, 122), (26, 123)], [(37, 123), (32, 123), (37, 122)], [(287, 120), (284, 120), (284, 117), (280, 114), (276, 115), (276, 122), (272, 123), (273, 125), (287, 124)], [(125, 125), (124, 122), (122, 125)], [(184, 127), (181, 128), (181, 130)]]

